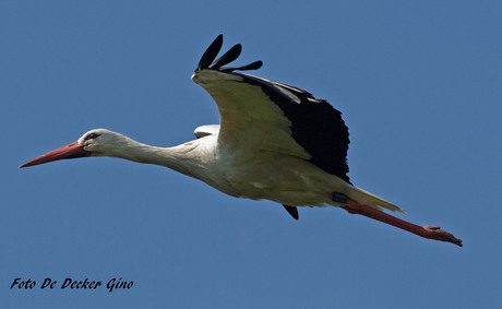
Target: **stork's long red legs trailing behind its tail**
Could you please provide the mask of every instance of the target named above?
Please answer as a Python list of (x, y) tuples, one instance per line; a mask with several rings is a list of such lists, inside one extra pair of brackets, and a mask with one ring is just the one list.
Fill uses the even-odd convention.
[(439, 226), (419, 226), (419, 225), (406, 222), (404, 219), (397, 218), (395, 216), (392, 216), (382, 211), (379, 211), (372, 206), (361, 205), (358, 202), (351, 199), (348, 199), (348, 198), (347, 198), (347, 205), (342, 206), (342, 207), (351, 214), (359, 214), (359, 215), (363, 215), (367, 217), (371, 217), (380, 222), (393, 225), (395, 227), (405, 229), (407, 231), (410, 231), (413, 234), (416, 234), (425, 238), (447, 241), (447, 242), (455, 243), (459, 247), (463, 247), (461, 239), (455, 238), (452, 234), (447, 233), (446, 230), (441, 229)]

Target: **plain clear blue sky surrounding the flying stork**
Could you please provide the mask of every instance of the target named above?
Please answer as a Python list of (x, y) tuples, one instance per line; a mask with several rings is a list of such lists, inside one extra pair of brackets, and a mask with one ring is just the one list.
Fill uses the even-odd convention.
[[(502, 306), (500, 2), (0, 2), (2, 308)], [(344, 112), (355, 185), (465, 247), (337, 209), (295, 222), (120, 159), (17, 168), (94, 128), (170, 146), (217, 123), (190, 75), (220, 33), (243, 45), (237, 64)]]

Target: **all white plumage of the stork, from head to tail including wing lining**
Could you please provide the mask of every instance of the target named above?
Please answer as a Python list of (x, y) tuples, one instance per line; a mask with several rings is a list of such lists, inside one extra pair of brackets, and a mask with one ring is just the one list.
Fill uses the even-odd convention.
[[(242, 83), (241, 76), (201, 70), (192, 80), (213, 96), (220, 115), (220, 126), (195, 130), (202, 138), (175, 147), (154, 147), (96, 129), (79, 143), (92, 156), (163, 165), (237, 198), (290, 206), (338, 206), (332, 192), (340, 192), (361, 204), (404, 212), (308, 162), (310, 154), (292, 139), (289, 119), (263, 91)], [(284, 86), (277, 88), (295, 100)], [(89, 133), (99, 136), (85, 140)]]

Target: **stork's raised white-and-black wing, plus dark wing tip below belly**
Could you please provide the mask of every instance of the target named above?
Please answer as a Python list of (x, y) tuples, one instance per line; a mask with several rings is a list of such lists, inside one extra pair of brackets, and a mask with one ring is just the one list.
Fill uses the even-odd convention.
[[(346, 159), (350, 141), (342, 112), (302, 88), (234, 72), (259, 69), (262, 61), (223, 68), (238, 58), (241, 46), (215, 60), (222, 45), (219, 35), (192, 76), (216, 102), (218, 138), (300, 157), (350, 183)], [(292, 210), (288, 212), (296, 217)]]

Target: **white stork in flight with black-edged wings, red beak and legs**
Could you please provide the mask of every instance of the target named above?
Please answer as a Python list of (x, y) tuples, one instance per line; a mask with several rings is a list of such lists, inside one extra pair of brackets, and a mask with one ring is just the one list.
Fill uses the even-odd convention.
[(86, 156), (156, 164), (232, 197), (277, 202), (295, 219), (298, 206), (331, 205), (425, 238), (463, 246), (461, 239), (438, 226), (418, 226), (385, 213), (384, 209), (405, 211), (350, 182), (348, 129), (340, 111), (302, 88), (236, 72), (256, 70), (262, 61), (225, 67), (239, 57), (242, 47), (235, 45), (216, 59), (222, 46), (219, 35), (192, 75), (215, 100), (220, 122), (196, 128), (195, 140), (156, 147), (95, 129), (20, 167)]

